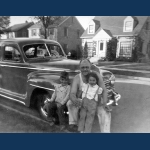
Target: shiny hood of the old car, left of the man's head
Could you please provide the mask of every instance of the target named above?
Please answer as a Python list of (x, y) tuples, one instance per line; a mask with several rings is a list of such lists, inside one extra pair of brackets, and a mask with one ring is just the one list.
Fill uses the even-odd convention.
[(30, 66), (39, 70), (79, 71), (79, 60), (55, 59), (47, 62), (34, 62)]

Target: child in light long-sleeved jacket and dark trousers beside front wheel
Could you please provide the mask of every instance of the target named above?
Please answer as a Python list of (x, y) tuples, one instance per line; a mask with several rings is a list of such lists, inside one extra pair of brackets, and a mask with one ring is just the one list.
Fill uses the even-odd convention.
[(66, 103), (69, 99), (70, 85), (69, 85), (69, 74), (67, 72), (61, 72), (60, 75), (61, 84), (55, 87), (55, 92), (53, 93), (51, 99), (45, 102), (47, 105), (48, 116), (53, 117), (54, 111), (58, 114), (58, 119), (60, 123), (60, 130), (65, 128), (65, 114)]

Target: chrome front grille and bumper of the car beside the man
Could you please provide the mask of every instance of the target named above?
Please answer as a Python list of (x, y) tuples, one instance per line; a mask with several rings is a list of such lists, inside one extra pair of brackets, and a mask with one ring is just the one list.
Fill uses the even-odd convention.
[(110, 80), (109, 77), (105, 76), (104, 78), (105, 87), (107, 89), (107, 97), (108, 97), (108, 103), (106, 109), (108, 111), (111, 111), (109, 105), (117, 106), (118, 100), (121, 98), (121, 95), (115, 92), (115, 87), (113, 81)]

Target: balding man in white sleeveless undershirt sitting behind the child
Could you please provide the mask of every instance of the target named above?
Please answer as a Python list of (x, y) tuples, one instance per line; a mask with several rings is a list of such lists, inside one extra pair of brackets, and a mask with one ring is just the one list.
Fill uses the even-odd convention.
[[(81, 73), (76, 75), (73, 79), (71, 92), (70, 92), (70, 100), (67, 103), (67, 107), (69, 110), (69, 128), (70, 131), (77, 131), (77, 123), (78, 123), (78, 111), (81, 106), (81, 100), (78, 99), (78, 92), (82, 89), (82, 84), (87, 83), (86, 76), (89, 72), (93, 71), (99, 77), (99, 86), (103, 89), (102, 99), (103, 105), (107, 103), (107, 91), (100, 75), (99, 68), (95, 65), (92, 65), (88, 59), (83, 59), (80, 61), (80, 71)], [(99, 111), (98, 111), (99, 112)]]

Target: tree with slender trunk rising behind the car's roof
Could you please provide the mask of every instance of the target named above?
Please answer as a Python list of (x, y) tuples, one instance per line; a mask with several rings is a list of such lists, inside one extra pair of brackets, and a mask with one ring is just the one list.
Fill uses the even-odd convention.
[(36, 20), (42, 23), (44, 28), (44, 38), (47, 39), (47, 29), (50, 25), (56, 24), (59, 20), (61, 20), (62, 16), (35, 16)]

